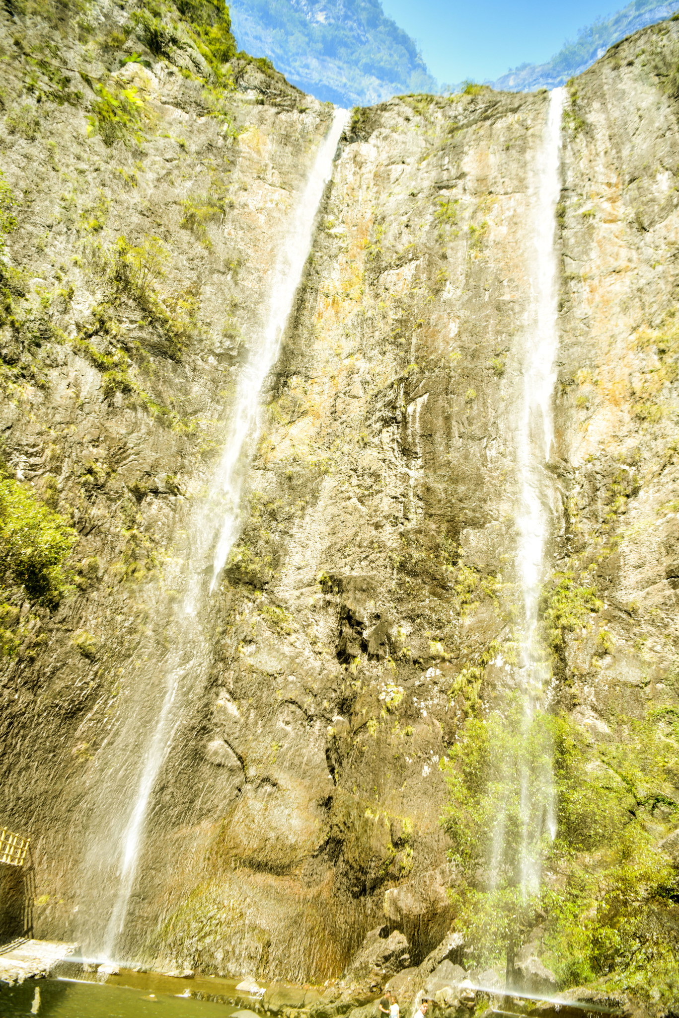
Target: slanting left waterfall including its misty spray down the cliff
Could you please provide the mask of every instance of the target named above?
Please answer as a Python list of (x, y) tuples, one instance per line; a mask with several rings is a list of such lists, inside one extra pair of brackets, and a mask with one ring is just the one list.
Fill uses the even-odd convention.
[[(94, 901), (97, 884), (104, 888), (112, 883), (116, 890), (103, 935), (97, 932), (98, 922), (99, 929), (102, 928), (101, 916), (88, 919), (82, 942), (91, 954), (101, 956), (103, 949), (107, 959), (124, 953), (121, 934), (135, 885), (154, 787), (181, 723), (182, 705), (188, 701), (191, 690), (199, 687), (199, 680), (209, 667), (208, 648), (212, 640), (209, 595), (218, 583), (238, 536), (241, 491), (257, 439), (260, 393), (278, 357), (281, 337), (310, 250), (315, 218), (346, 118), (345, 110), (335, 111), (304, 191), (292, 212), (273, 274), (266, 327), (252, 344), (252, 353), (238, 383), (224, 455), (204, 508), (190, 523), (189, 553), (166, 567), (168, 585), (181, 590), (182, 598), (172, 619), (172, 635), (166, 641), (164, 660), (155, 666), (151, 691), (142, 688), (142, 683), (136, 692), (131, 691), (125, 723), (114, 733), (107, 764), (99, 765), (102, 785), (95, 809), (99, 826), (95, 825), (88, 846), (84, 879), (93, 889)], [(212, 566), (206, 569), (206, 558), (211, 556), (213, 548), (216, 551)], [(152, 655), (153, 651), (148, 657)], [(92, 902), (84, 904), (83, 911), (95, 911)], [(101, 904), (96, 911), (102, 911)]]

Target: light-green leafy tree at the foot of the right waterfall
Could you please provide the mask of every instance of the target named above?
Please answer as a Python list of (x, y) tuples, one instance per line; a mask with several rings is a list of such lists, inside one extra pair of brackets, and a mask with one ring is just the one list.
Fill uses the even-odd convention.
[(556, 719), (518, 698), (469, 719), (446, 769), (442, 824), (465, 879), (458, 924), (480, 957), (514, 954), (541, 910), (541, 873), (556, 832), (552, 770)]

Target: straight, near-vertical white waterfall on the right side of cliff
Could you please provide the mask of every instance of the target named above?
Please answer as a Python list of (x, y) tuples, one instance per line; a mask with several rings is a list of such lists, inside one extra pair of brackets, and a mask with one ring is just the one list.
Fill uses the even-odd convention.
[[(559, 157), (564, 90), (550, 94), (547, 123), (537, 153), (534, 206), (531, 292), (533, 322), (523, 351), (523, 398), (516, 430), (519, 505), (517, 573), (523, 596), (522, 692), (526, 725), (544, 701), (549, 668), (537, 642), (537, 601), (544, 576), (544, 558), (550, 529), (550, 483), (545, 466), (554, 438), (552, 397), (556, 382), (558, 265), (554, 248), (556, 207), (561, 191)], [(540, 773), (542, 771), (542, 773)], [(541, 867), (535, 832), (556, 833), (551, 761), (529, 775), (525, 761), (520, 769), (522, 818), (521, 889), (524, 895), (540, 888)], [(531, 838), (531, 834), (533, 837)]]

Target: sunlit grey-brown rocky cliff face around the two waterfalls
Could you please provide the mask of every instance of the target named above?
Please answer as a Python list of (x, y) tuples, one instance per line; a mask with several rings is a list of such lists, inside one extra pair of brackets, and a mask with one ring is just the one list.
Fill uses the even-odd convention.
[[(548, 96), (354, 113), (240, 536), (187, 635), (182, 563), (209, 584), (195, 520), (330, 112), (252, 64), (219, 84), (188, 37), (115, 71), (101, 37), (127, 12), (89, 16), (90, 41), (71, 22), (54, 43), (2, 15), (3, 455), (77, 532), (58, 606), (7, 595), (1, 817), (33, 837), (34, 929), (101, 944), (172, 661), (124, 951), (320, 981), (387, 921), (419, 964), (453, 918), (442, 762), (522, 666), (515, 414)], [(678, 62), (676, 22), (646, 30), (565, 105), (542, 612), (554, 702), (595, 742), (677, 702)], [(137, 90), (118, 138), (98, 82)], [(671, 775), (636, 794), (662, 837)]]

